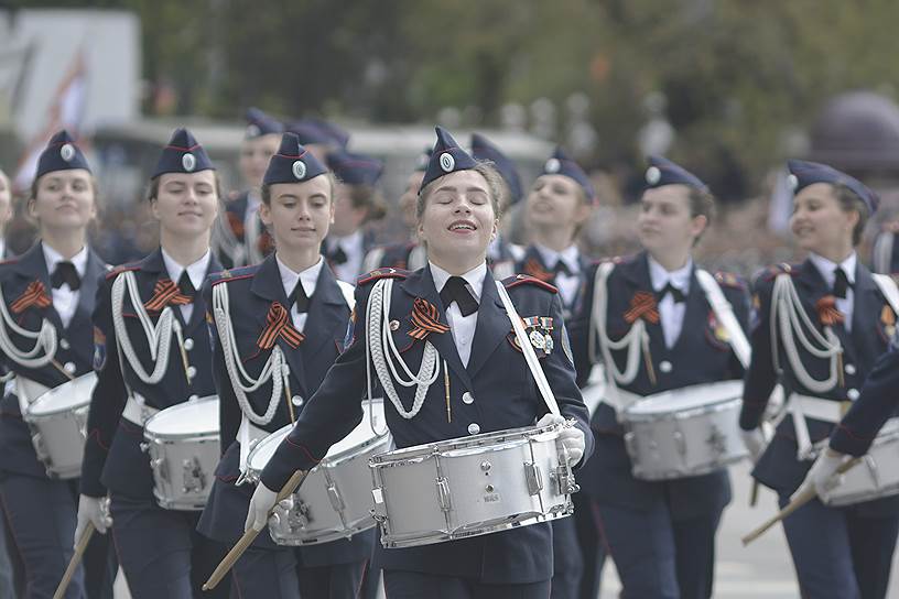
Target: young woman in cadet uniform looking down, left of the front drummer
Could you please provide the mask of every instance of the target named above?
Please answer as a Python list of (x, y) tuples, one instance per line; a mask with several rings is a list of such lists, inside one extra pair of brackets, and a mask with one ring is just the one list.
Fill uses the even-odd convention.
[[(285, 133), (262, 183), (260, 216), (274, 253), (261, 264), (220, 273), (204, 290), (216, 338), (224, 456), (199, 530), (229, 545), (243, 533), (252, 495), (252, 484), (238, 484), (241, 460), (253, 442), (303, 414), (343, 348), (353, 286), (337, 281), (319, 253), (334, 217), (334, 176)], [(282, 364), (274, 368), (277, 378), (263, 378), (272, 364)], [(373, 538), (371, 530), (294, 548), (261, 534), (235, 565), (234, 593), (351, 599)]]

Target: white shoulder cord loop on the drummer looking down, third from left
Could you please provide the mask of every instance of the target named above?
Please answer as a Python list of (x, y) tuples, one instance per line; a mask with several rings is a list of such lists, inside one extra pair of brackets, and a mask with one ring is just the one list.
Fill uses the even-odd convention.
[[(243, 363), (240, 355), (237, 351), (237, 340), (235, 338), (234, 326), (230, 319), (230, 307), (228, 301), (228, 284), (221, 283), (213, 286), (213, 315), (215, 317), (215, 325), (218, 329), (218, 342), (221, 345), (221, 353), (225, 357), (225, 369), (228, 372), (228, 379), (231, 381), (231, 388), (237, 397), (237, 403), (243, 415), (253, 424), (264, 426), (274, 418), (274, 413), (278, 410), (278, 403), (289, 377), (290, 366), (284, 361), (284, 353), (281, 348), (275, 345), (258, 379), (253, 379), (243, 369)], [(269, 405), (266, 413), (257, 414), (252, 405), (247, 399), (247, 393), (258, 390), (269, 380), (272, 381), (272, 393), (269, 399)], [(248, 384), (245, 385), (243, 381)]]

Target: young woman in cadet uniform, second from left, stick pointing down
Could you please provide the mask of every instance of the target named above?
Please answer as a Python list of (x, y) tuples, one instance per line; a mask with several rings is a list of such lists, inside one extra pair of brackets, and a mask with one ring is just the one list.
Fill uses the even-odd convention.
[[(209, 250), (218, 178), (206, 151), (178, 129), (150, 179), (160, 248), (111, 271), (94, 311), (97, 385), (87, 421), (75, 541), (88, 522), (111, 535), (136, 599), (199, 597), (221, 548), (196, 532), (198, 512), (161, 508), (153, 495), (143, 426), (159, 411), (214, 395), (205, 305), (197, 290), (221, 270)], [(148, 334), (145, 324), (158, 335)], [(227, 597), (227, 585), (219, 596)]]

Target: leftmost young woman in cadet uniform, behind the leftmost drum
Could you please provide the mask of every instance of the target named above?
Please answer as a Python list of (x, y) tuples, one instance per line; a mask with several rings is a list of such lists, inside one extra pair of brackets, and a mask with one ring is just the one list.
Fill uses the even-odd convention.
[[(47, 477), (22, 411), (46, 390), (90, 371), (90, 314), (107, 272), (87, 244), (97, 214), (94, 177), (67, 132), (56, 133), (41, 154), (26, 209), (39, 240), (0, 264), (3, 366), (17, 378), (0, 404), (0, 499), (24, 565), (25, 596), (50, 598), (73, 554), (78, 481)], [(106, 538), (91, 541), (86, 576), (79, 568), (66, 597), (111, 597), (107, 547)]]

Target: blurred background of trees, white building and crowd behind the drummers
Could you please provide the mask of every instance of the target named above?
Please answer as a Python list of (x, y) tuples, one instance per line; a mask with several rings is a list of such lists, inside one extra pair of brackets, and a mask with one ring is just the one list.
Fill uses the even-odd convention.
[[(599, 258), (636, 249), (645, 156), (664, 154), (719, 200), (700, 260), (750, 274), (794, 255), (786, 157), (878, 190), (867, 244), (896, 218), (897, 20), (889, 0), (0, 0), (0, 168), (21, 198), (50, 133), (76, 133), (98, 174), (95, 246), (121, 263), (158, 242), (142, 185), (176, 126), (236, 197), (247, 107), (327, 119), (384, 163), (390, 211), (370, 226), (386, 243), (408, 236), (398, 200), (438, 123), (486, 134), (526, 186), (565, 146), (598, 190), (582, 243)], [(19, 209), (9, 244), (32, 232)]]

